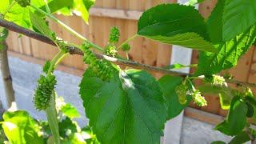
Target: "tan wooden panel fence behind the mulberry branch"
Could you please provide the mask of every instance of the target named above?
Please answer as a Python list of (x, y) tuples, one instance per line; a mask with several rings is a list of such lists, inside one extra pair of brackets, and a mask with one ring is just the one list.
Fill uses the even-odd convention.
[[(104, 47), (108, 42), (108, 36), (111, 26), (118, 26), (121, 31), (120, 42), (118, 45), (136, 34), (138, 14), (142, 11), (158, 5), (159, 3), (176, 2), (175, 0), (97, 0), (94, 8), (90, 10), (90, 25), (86, 25), (82, 18), (78, 16), (64, 17), (55, 15), (62, 22), (84, 35), (90, 41), (98, 46)], [(206, 0), (199, 6), (199, 11), (206, 18), (210, 15), (211, 10), (216, 4), (216, 0)], [(58, 26), (54, 22), (50, 22), (50, 27), (60, 38), (80, 44), (82, 41)], [(10, 54), (25, 58), (33, 62), (42, 64), (41, 60), (51, 59), (58, 52), (57, 48), (38, 42), (34, 39), (22, 36), (18, 38), (18, 34), (10, 33), (8, 39), (10, 46)], [(132, 50), (129, 52), (130, 59), (151, 66), (165, 67), (170, 64), (171, 46), (162, 43), (147, 40), (145, 38), (135, 38), (130, 42)], [(120, 53), (122, 56), (124, 54)], [(39, 59), (39, 60), (38, 60)], [(192, 63), (198, 62), (198, 51), (194, 50)], [(72, 74), (82, 75), (85, 64), (82, 57), (78, 55), (70, 55), (66, 58), (62, 65), (62, 70), (67, 70)], [(63, 67), (61, 66), (61, 67)], [(191, 70), (193, 72), (194, 70)], [(238, 66), (234, 69), (225, 71), (235, 75), (235, 79), (242, 82), (256, 82), (256, 51), (255, 47), (244, 55), (238, 62)], [(224, 73), (225, 73), (224, 72)], [(153, 73), (154, 74), (154, 73)], [(161, 74), (155, 74), (158, 78)], [(256, 91), (254, 91), (256, 92)], [(218, 96), (206, 96), (208, 106), (198, 107), (191, 102), (190, 106), (199, 110), (204, 110), (213, 114), (226, 115), (226, 110), (220, 108)]]

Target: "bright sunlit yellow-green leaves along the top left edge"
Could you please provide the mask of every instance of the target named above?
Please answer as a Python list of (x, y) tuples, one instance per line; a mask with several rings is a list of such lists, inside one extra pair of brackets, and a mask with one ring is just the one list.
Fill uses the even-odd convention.
[[(27, 0), (17, 0), (21, 2), (28, 2)], [(50, 8), (51, 13), (55, 13), (58, 11), (66, 10), (66, 13), (71, 13), (71, 10), (76, 10), (78, 13), (81, 13), (80, 15), (85, 20), (85, 22), (88, 22), (89, 13), (86, 9), (86, 6), (90, 8), (94, 4), (94, 0), (47, 0), (48, 6)], [(86, 3), (85, 3), (86, 2)], [(0, 12), (3, 13), (8, 6), (10, 6), (11, 1), (1, 1), (1, 7)], [(41, 10), (46, 11), (46, 4), (42, 0), (31, 0), (30, 2), (34, 6), (37, 6)], [(28, 3), (26, 3), (28, 4)], [(26, 6), (23, 5), (22, 6)], [(32, 24), (30, 22), (30, 11), (32, 13), (38, 14), (40, 17), (45, 17), (44, 15), (40, 14), (38, 11), (35, 11), (30, 6), (22, 7), (20, 5), (14, 5), (6, 14), (6, 20), (10, 22), (15, 22), (19, 26), (23, 26), (25, 28), (31, 28)]]

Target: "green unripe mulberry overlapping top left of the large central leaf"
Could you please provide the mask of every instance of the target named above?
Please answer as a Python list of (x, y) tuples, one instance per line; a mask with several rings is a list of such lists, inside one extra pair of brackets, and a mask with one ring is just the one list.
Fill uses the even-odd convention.
[(113, 78), (113, 74), (108, 63), (98, 60), (96, 55), (90, 50), (84, 50), (84, 52), (85, 56), (83, 62), (88, 64), (89, 68), (93, 70), (93, 73), (96, 74), (98, 78), (101, 78), (102, 81), (110, 82), (110, 79)]

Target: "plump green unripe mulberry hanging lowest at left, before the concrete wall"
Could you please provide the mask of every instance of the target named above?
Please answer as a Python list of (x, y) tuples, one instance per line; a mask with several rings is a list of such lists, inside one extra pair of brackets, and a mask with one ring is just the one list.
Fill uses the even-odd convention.
[(47, 78), (40, 75), (38, 88), (35, 90), (34, 94), (34, 106), (38, 110), (46, 110), (46, 108), (50, 106), (50, 98), (51, 94), (54, 93), (56, 82), (54, 75), (50, 75)]

